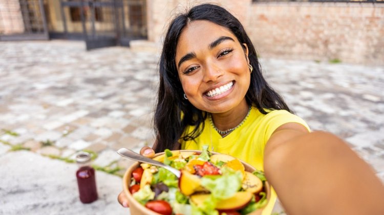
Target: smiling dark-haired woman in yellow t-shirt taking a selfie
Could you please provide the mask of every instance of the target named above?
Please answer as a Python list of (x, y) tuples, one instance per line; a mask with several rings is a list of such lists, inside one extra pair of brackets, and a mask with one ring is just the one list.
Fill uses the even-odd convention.
[[(199, 5), (170, 23), (155, 131), (155, 152), (209, 145), (265, 171), (288, 213), (384, 214), (384, 187), (369, 165), (291, 113), (263, 78), (243, 26), (222, 7)], [(263, 214), (275, 199), (272, 192)], [(127, 205), (123, 194), (119, 202)]]

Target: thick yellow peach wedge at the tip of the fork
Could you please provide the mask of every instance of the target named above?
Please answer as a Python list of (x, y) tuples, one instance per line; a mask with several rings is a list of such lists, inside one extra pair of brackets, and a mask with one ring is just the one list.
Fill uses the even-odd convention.
[(181, 175), (179, 178), (179, 188), (180, 192), (184, 194), (185, 196), (189, 196), (200, 187), (201, 185), (201, 179), (189, 173), (188, 171), (181, 170)]

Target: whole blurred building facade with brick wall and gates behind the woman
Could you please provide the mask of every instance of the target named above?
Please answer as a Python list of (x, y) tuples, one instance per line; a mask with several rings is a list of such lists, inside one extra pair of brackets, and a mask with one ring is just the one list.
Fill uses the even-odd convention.
[[(31, 35), (26, 32), (34, 30), (45, 32), (47, 39), (83, 38), (104, 45), (146, 39), (160, 47), (176, 14), (197, 4), (214, 3), (239, 18), (261, 57), (384, 65), (382, 0), (309, 1), (3, 0), (0, 40), (17, 34), (26, 37)], [(26, 2), (42, 2), (45, 15), (35, 15), (45, 20), (39, 22), (42, 25), (28, 25), (23, 12)]]

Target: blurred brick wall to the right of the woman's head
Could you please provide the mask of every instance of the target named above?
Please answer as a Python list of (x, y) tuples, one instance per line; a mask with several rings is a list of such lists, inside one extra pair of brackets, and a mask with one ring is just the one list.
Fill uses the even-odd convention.
[(384, 4), (256, 3), (247, 31), (262, 57), (384, 65)]

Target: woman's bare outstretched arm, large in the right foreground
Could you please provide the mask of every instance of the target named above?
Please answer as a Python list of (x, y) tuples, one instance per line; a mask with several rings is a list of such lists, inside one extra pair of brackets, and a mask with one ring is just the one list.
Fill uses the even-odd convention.
[(279, 127), (264, 155), (267, 180), (286, 212), (384, 214), (384, 185), (370, 165), (335, 135), (300, 127)]

